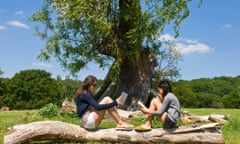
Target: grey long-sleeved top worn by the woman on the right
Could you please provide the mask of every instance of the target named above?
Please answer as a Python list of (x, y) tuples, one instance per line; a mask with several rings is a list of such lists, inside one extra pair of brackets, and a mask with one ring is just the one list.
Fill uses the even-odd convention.
[(163, 98), (162, 106), (158, 110), (153, 111), (152, 114), (162, 115), (164, 112), (167, 112), (167, 115), (172, 122), (177, 123), (180, 117), (180, 103), (173, 93), (168, 93)]

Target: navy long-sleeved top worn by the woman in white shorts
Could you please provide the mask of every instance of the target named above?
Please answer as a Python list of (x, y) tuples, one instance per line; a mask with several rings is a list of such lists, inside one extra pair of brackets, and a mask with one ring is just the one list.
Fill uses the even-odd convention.
[(113, 106), (117, 106), (116, 101), (108, 104), (99, 104), (93, 98), (90, 92), (82, 93), (79, 97), (75, 98), (75, 103), (77, 105), (76, 109), (79, 117), (82, 117), (89, 105), (93, 106), (96, 110), (103, 110)]

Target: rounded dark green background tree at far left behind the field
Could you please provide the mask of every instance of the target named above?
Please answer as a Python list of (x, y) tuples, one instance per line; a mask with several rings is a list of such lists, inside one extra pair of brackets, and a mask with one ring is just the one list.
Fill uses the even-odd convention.
[(48, 103), (60, 105), (60, 87), (44, 70), (23, 70), (8, 83), (4, 101), (11, 109), (41, 108)]

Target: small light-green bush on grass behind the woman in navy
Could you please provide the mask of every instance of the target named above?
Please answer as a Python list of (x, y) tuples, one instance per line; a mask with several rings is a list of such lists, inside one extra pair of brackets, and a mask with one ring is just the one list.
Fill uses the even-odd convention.
[(38, 111), (38, 114), (42, 117), (55, 117), (60, 115), (60, 110), (57, 105), (49, 103)]

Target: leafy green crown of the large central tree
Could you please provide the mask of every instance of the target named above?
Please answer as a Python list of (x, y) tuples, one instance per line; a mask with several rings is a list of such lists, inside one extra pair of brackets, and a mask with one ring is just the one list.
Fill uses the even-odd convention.
[[(45, 0), (30, 18), (43, 24), (36, 28), (36, 35), (47, 41), (39, 58), (55, 56), (73, 74), (88, 62), (95, 61), (100, 67), (112, 62), (114, 78), (126, 58), (139, 60), (145, 49), (154, 53), (153, 59), (161, 55), (160, 33), (172, 24), (178, 36), (181, 22), (189, 16), (190, 2)], [(169, 67), (167, 72), (177, 74), (176, 70)]]

